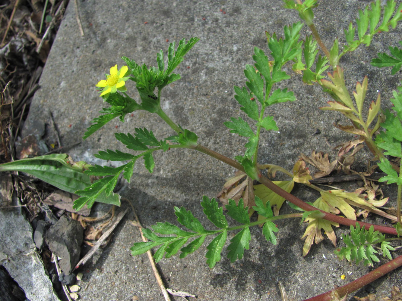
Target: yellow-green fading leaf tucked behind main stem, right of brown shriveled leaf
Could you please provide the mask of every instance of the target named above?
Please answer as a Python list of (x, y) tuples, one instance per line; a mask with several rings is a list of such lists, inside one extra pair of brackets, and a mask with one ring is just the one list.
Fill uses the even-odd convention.
[[(273, 181), (273, 183), (289, 193), (292, 191), (293, 186), (295, 185), (295, 182), (293, 180)], [(270, 201), (271, 206), (273, 206), (274, 215), (277, 216), (279, 214), (279, 209), (281, 209), (281, 206), (285, 201), (283, 197), (277, 195), (275, 192), (273, 192), (271, 189), (263, 184), (254, 185), (254, 194), (263, 201), (264, 205), (267, 204), (267, 201)]]

